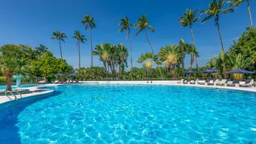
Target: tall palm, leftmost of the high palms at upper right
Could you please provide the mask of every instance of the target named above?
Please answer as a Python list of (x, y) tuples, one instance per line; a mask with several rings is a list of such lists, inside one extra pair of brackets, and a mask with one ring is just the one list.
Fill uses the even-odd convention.
[(193, 24), (196, 21), (199, 21), (199, 17), (196, 16), (196, 12), (197, 12), (197, 9), (195, 11), (193, 11), (191, 9), (188, 9), (188, 10), (186, 10), (186, 13), (184, 13), (184, 15), (181, 16), (181, 18), (179, 19), (179, 22), (181, 23), (182, 27), (188, 27), (189, 26), (192, 41), (193, 41), (194, 45), (196, 45), (196, 44), (195, 44), (195, 41), (194, 41)]

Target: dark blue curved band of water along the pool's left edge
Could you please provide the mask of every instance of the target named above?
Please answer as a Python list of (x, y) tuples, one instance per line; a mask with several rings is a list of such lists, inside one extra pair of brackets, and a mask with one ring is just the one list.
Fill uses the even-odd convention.
[(60, 95), (61, 92), (55, 91), (50, 95), (39, 95), (34, 97), (26, 97), (14, 102), (8, 102), (0, 105), (0, 143), (1, 144), (20, 144), (21, 138), (19, 136), (18, 123), (19, 113), (29, 105), (38, 102), (39, 100), (47, 99)]

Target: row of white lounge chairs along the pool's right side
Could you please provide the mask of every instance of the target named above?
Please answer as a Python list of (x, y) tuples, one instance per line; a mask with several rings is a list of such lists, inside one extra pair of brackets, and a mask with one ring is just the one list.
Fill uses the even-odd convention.
[(256, 82), (254, 80), (245, 80), (245, 81), (239, 81), (239, 80), (233, 80), (228, 81), (226, 79), (224, 80), (184, 80), (182, 79), (181, 82), (178, 82), (180, 84), (192, 84), (192, 85), (219, 85), (219, 86), (240, 86), (240, 87), (252, 87), (253, 85), (256, 85)]

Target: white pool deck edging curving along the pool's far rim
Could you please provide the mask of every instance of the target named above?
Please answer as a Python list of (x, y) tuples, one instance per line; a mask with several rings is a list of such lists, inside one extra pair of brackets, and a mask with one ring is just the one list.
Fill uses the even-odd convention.
[[(47, 85), (39, 85), (36, 87), (24, 87), (22, 89), (29, 89), (32, 93), (22, 94), (23, 97), (33, 97), (36, 95), (44, 95), (54, 92), (54, 90), (49, 89), (41, 89), (40, 87), (56, 87), (58, 85), (178, 85), (184, 87), (208, 87), (208, 88), (217, 88), (224, 90), (240, 90), (246, 92), (255, 92), (256, 87), (227, 87), (227, 86), (214, 86), (214, 85), (190, 85), (190, 84), (179, 84), (180, 81), (80, 81), (79, 84), (47, 84)], [(13, 96), (10, 96), (12, 100), (14, 100)], [(18, 96), (19, 97), (19, 96)], [(0, 96), (0, 104), (4, 102), (12, 101), (9, 100), (6, 96)]]

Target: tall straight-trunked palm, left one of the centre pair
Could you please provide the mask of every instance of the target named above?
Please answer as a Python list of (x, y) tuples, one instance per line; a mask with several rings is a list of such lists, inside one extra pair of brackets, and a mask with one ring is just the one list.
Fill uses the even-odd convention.
[(123, 19), (121, 19), (120, 23), (118, 24), (121, 28), (118, 30), (118, 32), (126, 31), (126, 40), (130, 44), (130, 53), (131, 53), (131, 70), (133, 72), (133, 52), (131, 47), (131, 38), (130, 38), (130, 27), (132, 26), (131, 22), (128, 19), (128, 16), (125, 16)]

